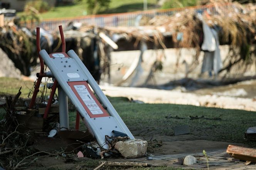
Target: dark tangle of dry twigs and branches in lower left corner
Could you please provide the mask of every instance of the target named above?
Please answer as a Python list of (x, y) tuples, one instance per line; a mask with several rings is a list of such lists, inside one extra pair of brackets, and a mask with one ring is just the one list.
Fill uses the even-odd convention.
[[(16, 103), (19, 102), (21, 88), (13, 98), (5, 97), (6, 111), (3, 120), (0, 120), (0, 167), (5, 169), (19, 169), (29, 167), (42, 156), (54, 156), (61, 158), (65, 163), (76, 162), (77, 157), (73, 152), (60, 150), (49, 153), (33, 147), (38, 136), (45, 136), (45, 132), (24, 129), (25, 125), (20, 124), (17, 118)], [(29, 110), (28, 110), (29, 111)], [(46, 135), (47, 136), (47, 135)]]

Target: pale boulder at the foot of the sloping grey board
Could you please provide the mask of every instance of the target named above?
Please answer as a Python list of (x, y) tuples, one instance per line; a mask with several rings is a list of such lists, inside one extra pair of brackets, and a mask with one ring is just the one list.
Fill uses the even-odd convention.
[(148, 142), (141, 139), (132, 139), (126, 141), (119, 141), (115, 145), (115, 149), (118, 150), (125, 158), (138, 158), (143, 157), (147, 152)]

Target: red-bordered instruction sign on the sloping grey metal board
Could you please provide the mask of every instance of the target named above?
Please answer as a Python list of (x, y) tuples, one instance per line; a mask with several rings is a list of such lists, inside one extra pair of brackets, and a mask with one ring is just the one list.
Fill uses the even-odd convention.
[(86, 81), (67, 82), (91, 118), (108, 117), (109, 114), (94, 96)]

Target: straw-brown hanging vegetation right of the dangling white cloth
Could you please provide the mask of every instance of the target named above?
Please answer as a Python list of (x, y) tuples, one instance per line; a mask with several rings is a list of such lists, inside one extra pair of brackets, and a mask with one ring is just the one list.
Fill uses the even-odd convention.
[(241, 61), (245, 64), (255, 61), (255, 9), (255, 5), (243, 6), (234, 2), (232, 8), (216, 8), (218, 15), (205, 16), (205, 20), (211, 27), (217, 25), (221, 28), (222, 42), (230, 44), (227, 56), (229, 64), (222, 70), (229, 71), (232, 65)]

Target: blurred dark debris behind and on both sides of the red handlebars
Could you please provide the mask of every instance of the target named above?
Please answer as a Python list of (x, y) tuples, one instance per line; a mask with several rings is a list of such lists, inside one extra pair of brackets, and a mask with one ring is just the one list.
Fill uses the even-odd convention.
[[(39, 63), (35, 46), (35, 30), (29, 30), (19, 25), (19, 20), (14, 19), (14, 21), (9, 21), (3, 27), (0, 27), (0, 48), (23, 75), (29, 76), (33, 67)], [(67, 51), (73, 49), (79, 53), (88, 70), (99, 81), (101, 76), (99, 62), (101, 60), (99, 47), (97, 47), (98, 36), (93, 31), (88, 32), (86, 36), (79, 35), (78, 37), (72, 30), (65, 34), (67, 35)], [(48, 53), (61, 52), (61, 38), (55, 33), (50, 34), (41, 29), (40, 44), (41, 48)], [(104, 48), (104, 46), (101, 47)], [(8, 67), (10, 67), (10, 64)]]

